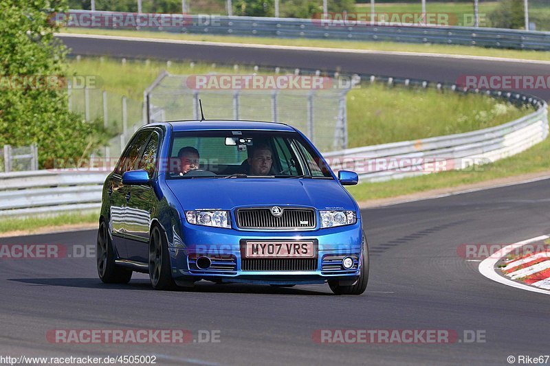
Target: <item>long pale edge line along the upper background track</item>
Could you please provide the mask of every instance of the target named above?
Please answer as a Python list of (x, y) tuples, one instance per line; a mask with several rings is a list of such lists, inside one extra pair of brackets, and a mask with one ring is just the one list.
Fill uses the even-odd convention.
[(239, 47), (239, 48), (254, 48), (254, 49), (286, 49), (289, 51), (331, 52), (336, 54), (373, 54), (373, 55), (388, 55), (388, 56), (455, 58), (459, 60), (480, 60), (480, 61), (516, 62), (516, 63), (522, 63), (522, 64), (550, 65), (550, 61), (545, 61), (545, 60), (524, 60), (521, 58), (472, 56), (472, 55), (461, 55), (461, 54), (435, 54), (430, 52), (378, 51), (374, 49), (347, 49), (347, 48), (329, 48), (329, 47), (261, 45), (258, 43), (186, 41), (182, 39), (103, 36), (100, 34), (56, 33), (55, 35), (63, 36), (67, 38), (91, 38), (91, 39), (108, 39), (113, 41), (155, 42), (155, 43), (170, 43), (170, 44), (176, 44), (176, 45), (203, 45), (203, 46)]

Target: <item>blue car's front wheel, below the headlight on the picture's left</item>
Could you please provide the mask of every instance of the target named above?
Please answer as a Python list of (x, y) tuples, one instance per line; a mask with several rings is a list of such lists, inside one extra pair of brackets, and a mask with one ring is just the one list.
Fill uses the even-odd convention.
[(170, 267), (166, 234), (164, 230), (154, 226), (149, 238), (149, 279), (155, 290), (173, 290), (177, 287)]

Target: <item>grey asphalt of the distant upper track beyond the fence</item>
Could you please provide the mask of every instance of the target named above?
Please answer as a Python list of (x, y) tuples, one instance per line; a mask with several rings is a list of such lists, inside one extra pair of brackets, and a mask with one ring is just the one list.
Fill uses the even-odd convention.
[[(161, 60), (192, 60), (226, 64), (303, 67), (366, 73), (381, 76), (418, 78), (433, 82), (456, 82), (461, 76), (536, 76), (548, 75), (550, 66), (536, 63), (498, 62), (387, 54), (332, 53), (289, 49), (253, 49), (250, 47), (219, 47), (215, 45), (185, 45), (120, 41), (96, 38), (60, 36), (72, 49), (83, 56), (116, 56), (128, 58), (157, 58)], [(527, 91), (550, 100), (550, 90)]]

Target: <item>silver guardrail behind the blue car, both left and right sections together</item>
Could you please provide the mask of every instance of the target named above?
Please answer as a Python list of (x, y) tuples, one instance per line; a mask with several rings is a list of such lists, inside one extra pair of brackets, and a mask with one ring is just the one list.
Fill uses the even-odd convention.
[[(300, 70), (300, 73), (305, 74), (319, 72)], [(428, 174), (432, 170), (426, 170), (427, 160), (443, 162), (444, 170), (468, 168), (472, 163), (479, 163), (480, 160), (483, 162), (485, 159), (496, 161), (526, 150), (546, 139), (549, 134), (547, 103), (530, 95), (501, 91), (471, 91), (452, 84), (406, 78), (359, 75), (351, 77), (392, 86), (434, 87), (453, 93), (483, 93), (536, 108), (536, 111), (525, 117), (483, 130), (323, 154), (331, 168), (336, 171), (356, 170), (362, 181), (384, 181)], [(372, 165), (374, 168), (369, 168), (369, 161), (377, 159), (390, 163), (380, 166), (375, 163)], [(395, 168), (392, 161), (397, 161), (397, 165), (401, 165)], [(90, 172), (70, 169), (0, 174), (0, 217), (97, 210), (100, 207), (102, 183), (107, 174), (104, 170)], [(133, 214), (145, 219), (143, 212), (136, 211)]]

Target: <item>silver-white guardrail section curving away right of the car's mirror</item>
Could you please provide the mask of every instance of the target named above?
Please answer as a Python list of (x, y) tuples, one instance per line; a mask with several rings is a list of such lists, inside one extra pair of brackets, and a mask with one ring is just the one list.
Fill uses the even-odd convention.
[(351, 148), (324, 154), (333, 170), (358, 172), (362, 181), (387, 181), (443, 170), (463, 170), (526, 150), (547, 138), (548, 108), (506, 124), (428, 139)]

